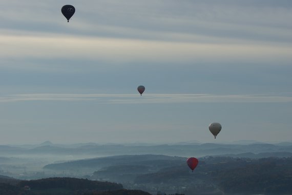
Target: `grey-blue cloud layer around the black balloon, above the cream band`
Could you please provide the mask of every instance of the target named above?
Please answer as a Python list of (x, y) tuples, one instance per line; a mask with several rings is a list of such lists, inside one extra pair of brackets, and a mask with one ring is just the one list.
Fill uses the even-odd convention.
[(292, 5), (287, 1), (88, 0), (87, 4), (72, 1), (76, 7), (73, 24), (67, 24), (60, 13), (64, 3), (0, 2), (2, 28), (113, 38), (151, 39), (157, 38), (153, 36), (156, 32), (171, 32), (238, 40), (291, 41)]

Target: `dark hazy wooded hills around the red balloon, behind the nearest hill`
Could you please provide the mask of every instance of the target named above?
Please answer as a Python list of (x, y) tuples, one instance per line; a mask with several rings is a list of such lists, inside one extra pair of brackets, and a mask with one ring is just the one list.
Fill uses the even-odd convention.
[[(290, 157), (256, 158), (280, 154)], [(199, 158), (199, 164), (194, 172), (187, 167), (184, 157), (152, 154), (120, 155), (50, 164), (45, 166), (45, 170), (77, 172), (82, 171), (81, 169), (92, 169), (95, 171), (89, 175), (89, 179), (118, 182), (130, 189), (149, 192), (159, 188), (172, 194), (175, 191), (213, 195), (291, 194), (292, 153), (242, 155), (244, 156), (242, 158)]]

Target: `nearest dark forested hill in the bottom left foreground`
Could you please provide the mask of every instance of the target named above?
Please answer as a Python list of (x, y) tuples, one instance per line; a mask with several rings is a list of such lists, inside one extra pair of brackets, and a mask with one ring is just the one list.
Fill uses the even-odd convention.
[[(7, 178), (11, 180), (11, 178)], [(17, 181), (17, 180), (15, 180)], [(121, 184), (77, 178), (47, 178), (41, 180), (0, 183), (1, 195), (150, 195), (141, 190), (126, 190)]]

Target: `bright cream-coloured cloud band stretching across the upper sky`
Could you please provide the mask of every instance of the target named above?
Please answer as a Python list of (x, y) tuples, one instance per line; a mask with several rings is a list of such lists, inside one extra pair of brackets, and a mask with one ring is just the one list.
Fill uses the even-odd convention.
[[(268, 44), (216, 44), (123, 38), (47, 35), (0, 35), (2, 59), (86, 59), (114, 62), (282, 62), (292, 48)], [(248, 59), (248, 60), (247, 60)], [(5, 66), (5, 65), (2, 65)]]

